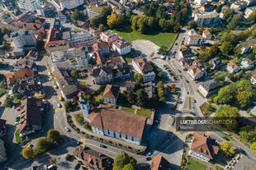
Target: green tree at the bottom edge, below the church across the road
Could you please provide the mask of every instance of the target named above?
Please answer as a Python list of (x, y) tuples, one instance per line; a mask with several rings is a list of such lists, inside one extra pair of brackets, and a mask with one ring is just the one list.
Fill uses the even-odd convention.
[[(116, 158), (114, 159), (113, 163), (113, 170), (122, 170), (126, 167), (126, 170), (131, 167), (135, 168), (136, 160), (133, 157), (130, 157), (128, 154), (126, 154), (125, 151), (121, 150), (118, 154), (116, 154)], [(127, 166), (126, 166), (127, 165)]]

